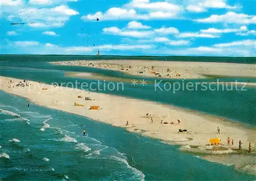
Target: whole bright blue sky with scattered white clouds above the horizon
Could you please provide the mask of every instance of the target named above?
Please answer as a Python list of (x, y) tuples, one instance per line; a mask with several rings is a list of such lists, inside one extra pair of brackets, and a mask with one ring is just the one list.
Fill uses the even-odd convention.
[(253, 0), (0, 2), (1, 54), (256, 56)]

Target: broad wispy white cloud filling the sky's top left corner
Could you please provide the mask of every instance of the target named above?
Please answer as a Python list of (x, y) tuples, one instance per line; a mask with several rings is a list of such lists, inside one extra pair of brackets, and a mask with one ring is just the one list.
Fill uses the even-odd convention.
[[(25, 1), (17, 1), (18, 3), (14, 3), (14, 1), (7, 0), (4, 2), (4, 4), (1, 2), (0, 15), (2, 14), (2, 17), (5, 17), (9, 21), (25, 22), (29, 27), (62, 27), (69, 20), (70, 16), (79, 14), (67, 5), (62, 4), (55, 6), (55, 4), (57, 4), (56, 2), (60, 3), (58, 0), (40, 1), (41, 3), (52, 2), (51, 5), (42, 7), (36, 6), (33, 2), (32, 4), (26, 4)], [(64, 3), (65, 2), (69, 2), (69, 0), (65, 0)], [(15, 6), (11, 6), (11, 4), (15, 4)], [(35, 23), (30, 24), (31, 22)]]

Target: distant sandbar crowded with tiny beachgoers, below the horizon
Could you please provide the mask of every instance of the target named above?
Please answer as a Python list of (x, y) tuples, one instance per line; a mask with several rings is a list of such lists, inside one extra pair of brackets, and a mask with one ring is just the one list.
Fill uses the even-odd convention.
[(181, 62), (150, 60), (97, 60), (97, 61), (57, 61), (58, 65), (87, 66), (99, 69), (121, 71), (144, 77), (195, 79), (208, 77), (248, 77), (255, 78), (255, 64)]

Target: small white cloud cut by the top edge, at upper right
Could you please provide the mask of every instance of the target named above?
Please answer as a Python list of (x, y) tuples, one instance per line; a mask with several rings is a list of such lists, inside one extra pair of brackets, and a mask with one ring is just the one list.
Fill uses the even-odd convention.
[(225, 0), (198, 0), (189, 1), (186, 9), (190, 12), (200, 13), (205, 12), (209, 8), (216, 9), (237, 9), (239, 6), (228, 6)]

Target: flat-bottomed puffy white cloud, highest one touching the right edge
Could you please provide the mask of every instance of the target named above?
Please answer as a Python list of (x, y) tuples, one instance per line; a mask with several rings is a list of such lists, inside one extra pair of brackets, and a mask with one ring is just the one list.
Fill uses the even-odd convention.
[(235, 12), (227, 12), (223, 15), (211, 15), (210, 17), (203, 19), (196, 19), (198, 22), (224, 22), (229, 24), (256, 24), (256, 16), (255, 15), (247, 15), (247, 14), (238, 14)]

